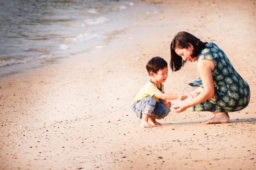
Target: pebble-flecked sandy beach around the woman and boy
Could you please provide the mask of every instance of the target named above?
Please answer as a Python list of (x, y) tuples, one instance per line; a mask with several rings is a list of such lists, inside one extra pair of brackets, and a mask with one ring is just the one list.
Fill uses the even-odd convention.
[[(139, 1), (137, 25), (85, 56), (0, 69), (0, 169), (256, 169), (256, 1)], [(156, 8), (147, 13), (147, 8)], [(150, 79), (146, 63), (170, 63), (179, 31), (217, 44), (250, 85), (250, 104), (230, 123), (209, 112), (175, 113), (140, 128), (132, 101)], [(93, 58), (93, 59), (92, 59)], [(45, 63), (46, 64), (45, 64)], [(51, 64), (52, 63), (52, 64)], [(165, 92), (185, 94), (196, 62), (171, 72)]]

